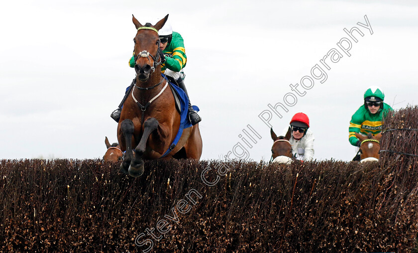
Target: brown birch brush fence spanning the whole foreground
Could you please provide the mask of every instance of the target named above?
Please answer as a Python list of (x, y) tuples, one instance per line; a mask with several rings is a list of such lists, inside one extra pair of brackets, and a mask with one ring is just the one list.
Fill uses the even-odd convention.
[(0, 251), (416, 252), (417, 128), (389, 115), (366, 164), (1, 160)]

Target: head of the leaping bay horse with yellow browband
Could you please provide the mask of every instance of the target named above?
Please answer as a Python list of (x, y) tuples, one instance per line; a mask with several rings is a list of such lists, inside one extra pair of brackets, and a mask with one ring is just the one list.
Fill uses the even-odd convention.
[[(142, 25), (133, 15), (132, 22), (135, 24), (137, 33), (133, 41), (135, 56), (135, 72), (139, 81), (147, 81), (151, 72), (161, 71), (159, 66), (160, 54), (158, 52), (160, 39), (158, 30), (161, 29), (167, 21), (168, 14), (158, 21), (155, 25), (146, 23)], [(160, 73), (160, 72), (159, 72)]]

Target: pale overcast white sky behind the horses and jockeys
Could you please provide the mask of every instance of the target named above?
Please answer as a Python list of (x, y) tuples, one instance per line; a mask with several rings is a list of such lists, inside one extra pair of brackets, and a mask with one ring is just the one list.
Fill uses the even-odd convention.
[[(304, 112), (315, 136), (314, 158), (351, 160), (348, 125), (369, 86), (382, 87), (394, 109), (417, 104), (415, 2), (3, 2), (0, 158), (102, 157), (104, 136), (117, 140), (109, 115), (134, 77), (128, 66), (136, 34), (132, 14), (145, 23), (169, 13), (185, 40), (185, 84), (201, 109), (202, 159), (229, 151), (235, 158), (242, 153), (238, 144), (249, 159), (269, 160), (268, 125), (280, 134), (295, 113)], [(357, 24), (367, 24), (365, 15), (373, 34)], [(364, 34), (353, 32), (357, 43), (343, 30), (354, 26)], [(337, 45), (342, 38), (351, 41), (350, 56)], [(332, 49), (342, 57), (335, 63), (325, 59), (328, 70), (320, 60)], [(311, 73), (316, 64), (327, 75), (323, 83)], [(308, 87), (305, 79), (309, 89), (301, 86), (305, 76), (314, 80)], [(291, 84), (306, 93), (298, 95)], [(284, 97), (292, 106), (286, 105), (288, 112), (278, 108), (279, 118), (269, 104), (285, 105)], [(268, 124), (259, 117), (264, 112), (268, 118), (266, 111), (272, 115)], [(253, 135), (257, 143), (243, 132), (249, 132), (247, 125), (259, 134)]]

